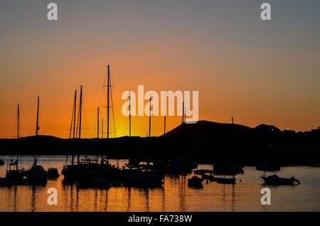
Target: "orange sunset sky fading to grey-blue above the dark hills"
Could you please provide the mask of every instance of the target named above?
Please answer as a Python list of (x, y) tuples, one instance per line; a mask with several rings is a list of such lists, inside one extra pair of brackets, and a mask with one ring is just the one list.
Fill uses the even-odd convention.
[[(58, 4), (48, 21), (47, 4)], [(260, 5), (272, 6), (272, 21)], [(0, 1), (0, 138), (40, 130), (68, 138), (83, 86), (83, 136), (95, 137), (112, 72), (117, 136), (129, 135), (122, 92), (199, 92), (199, 119), (306, 131), (320, 126), (320, 1)], [(105, 109), (100, 114), (105, 118)], [(146, 136), (147, 117), (132, 117)], [(180, 122), (167, 119), (167, 130)], [(101, 122), (100, 122), (101, 123)], [(164, 117), (152, 119), (152, 136)]]

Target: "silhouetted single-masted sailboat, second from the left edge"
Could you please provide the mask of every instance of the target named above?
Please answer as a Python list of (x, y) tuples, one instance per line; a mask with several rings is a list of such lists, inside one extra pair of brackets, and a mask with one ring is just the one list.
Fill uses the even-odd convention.
[[(36, 136), (38, 136), (39, 130), (39, 97), (37, 108), (37, 122), (36, 122)], [(33, 156), (33, 166), (26, 172), (26, 178), (29, 184), (47, 183), (47, 172), (43, 166), (37, 164), (37, 156)]]

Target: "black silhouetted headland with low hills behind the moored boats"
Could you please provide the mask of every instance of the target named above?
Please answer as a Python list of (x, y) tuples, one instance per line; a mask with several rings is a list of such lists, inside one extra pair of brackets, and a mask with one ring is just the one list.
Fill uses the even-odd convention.
[[(73, 149), (75, 146), (75, 149)], [(255, 165), (274, 161), (279, 165), (318, 165), (320, 128), (306, 132), (261, 124), (245, 127), (199, 121), (181, 124), (159, 137), (123, 136), (115, 139), (60, 139), (27, 136), (0, 139), (0, 155), (107, 155), (110, 158), (140, 158), (146, 161), (186, 156), (198, 163), (233, 161)]]

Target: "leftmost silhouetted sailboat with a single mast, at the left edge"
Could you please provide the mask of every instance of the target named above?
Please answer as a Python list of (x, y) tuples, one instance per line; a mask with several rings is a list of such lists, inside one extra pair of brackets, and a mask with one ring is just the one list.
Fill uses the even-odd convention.
[[(18, 128), (17, 128), (17, 139), (19, 139), (19, 122), (20, 122), (20, 109), (18, 104)], [(0, 185), (16, 185), (26, 183), (26, 172), (23, 168), (18, 167), (18, 155), (16, 161), (11, 162), (6, 166), (6, 178), (0, 178)]]

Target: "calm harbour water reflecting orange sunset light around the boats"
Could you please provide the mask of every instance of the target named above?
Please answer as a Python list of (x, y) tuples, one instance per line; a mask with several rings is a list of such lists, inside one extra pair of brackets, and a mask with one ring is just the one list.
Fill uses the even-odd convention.
[[(0, 156), (9, 161), (11, 156)], [(21, 157), (25, 169), (31, 166), (32, 156)], [(111, 160), (112, 163), (117, 161)], [(46, 170), (65, 163), (65, 156), (39, 156), (38, 164)], [(127, 160), (119, 160), (119, 165)], [(211, 165), (198, 168), (212, 169)], [(0, 211), (320, 211), (320, 168), (294, 166), (282, 168), (278, 175), (294, 176), (296, 186), (263, 185), (263, 173), (255, 167), (245, 167), (236, 176), (235, 185), (203, 181), (203, 188), (188, 188), (188, 176), (166, 176), (163, 188), (78, 189), (63, 185), (63, 176), (48, 181), (46, 186), (17, 185), (0, 187)], [(0, 166), (4, 177), (6, 166)], [(267, 174), (269, 175), (269, 174)], [(241, 180), (242, 182), (240, 182)], [(271, 205), (260, 204), (261, 188), (270, 188)], [(48, 188), (58, 190), (58, 205), (47, 204)]]

